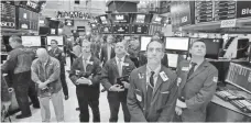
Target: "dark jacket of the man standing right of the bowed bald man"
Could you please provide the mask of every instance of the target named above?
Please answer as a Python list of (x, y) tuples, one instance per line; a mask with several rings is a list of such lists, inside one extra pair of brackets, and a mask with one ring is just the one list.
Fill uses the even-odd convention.
[(100, 60), (92, 56), (89, 59), (89, 64), (86, 66), (86, 71), (83, 66), (83, 56), (78, 57), (76, 60), (74, 60), (73, 66), (70, 68), (69, 72), (69, 79), (73, 81), (74, 85), (76, 85), (76, 80), (79, 78), (77, 75), (77, 70), (79, 70), (81, 74), (88, 72), (89, 75), (92, 74), (91, 86), (88, 85), (77, 85), (77, 87), (89, 87), (99, 89), (99, 80), (101, 75), (101, 67), (100, 67)]

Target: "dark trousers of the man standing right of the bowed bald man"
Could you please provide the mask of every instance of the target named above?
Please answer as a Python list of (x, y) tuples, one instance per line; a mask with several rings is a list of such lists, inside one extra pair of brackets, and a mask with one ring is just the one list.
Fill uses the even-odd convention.
[(89, 122), (89, 109), (92, 110), (94, 122), (100, 122), (99, 112), (99, 89), (87, 86), (77, 86), (76, 88), (78, 105), (80, 110), (80, 122)]

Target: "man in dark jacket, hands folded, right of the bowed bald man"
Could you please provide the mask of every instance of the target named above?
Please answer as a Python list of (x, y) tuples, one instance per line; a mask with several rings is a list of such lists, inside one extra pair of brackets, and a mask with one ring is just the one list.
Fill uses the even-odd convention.
[(101, 74), (100, 60), (91, 55), (90, 42), (84, 40), (83, 55), (78, 57), (72, 68), (69, 78), (76, 86), (76, 94), (80, 110), (80, 122), (89, 122), (88, 105), (92, 110), (94, 122), (100, 122), (99, 113), (99, 80)]

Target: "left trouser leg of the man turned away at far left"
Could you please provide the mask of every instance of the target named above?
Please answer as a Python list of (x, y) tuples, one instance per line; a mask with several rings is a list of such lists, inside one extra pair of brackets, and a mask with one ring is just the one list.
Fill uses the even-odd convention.
[(28, 91), (31, 85), (31, 71), (14, 74), (13, 88), (15, 92), (15, 98), (22, 115), (30, 115), (30, 104), (28, 99)]

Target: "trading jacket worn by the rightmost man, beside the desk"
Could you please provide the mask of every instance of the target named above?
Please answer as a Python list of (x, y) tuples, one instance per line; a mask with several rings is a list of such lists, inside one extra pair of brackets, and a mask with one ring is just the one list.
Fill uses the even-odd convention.
[(185, 93), (187, 108), (183, 110), (183, 122), (205, 122), (206, 108), (215, 94), (218, 70), (205, 60), (187, 79), (189, 62), (183, 60), (177, 67), (177, 76), (182, 79), (178, 93)]

